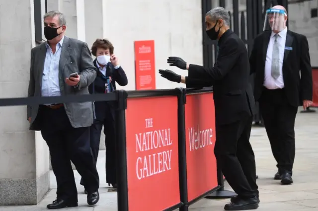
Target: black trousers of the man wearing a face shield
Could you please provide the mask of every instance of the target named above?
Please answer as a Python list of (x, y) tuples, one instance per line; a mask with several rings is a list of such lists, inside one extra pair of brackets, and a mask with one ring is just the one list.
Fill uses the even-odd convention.
[(295, 119), (298, 108), (288, 103), (285, 89), (265, 89), (260, 111), (277, 168), (292, 174), (295, 159)]

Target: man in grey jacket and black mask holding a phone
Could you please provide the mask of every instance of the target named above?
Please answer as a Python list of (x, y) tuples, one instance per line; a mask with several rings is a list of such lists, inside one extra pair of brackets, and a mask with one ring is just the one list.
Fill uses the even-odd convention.
[[(28, 97), (89, 94), (96, 70), (87, 44), (64, 36), (66, 20), (59, 11), (44, 15), (47, 42), (31, 50)], [(92, 102), (27, 107), (30, 130), (41, 131), (47, 142), (57, 180), (57, 199), (48, 209), (78, 206), (71, 160), (85, 181), (88, 205), (99, 200), (99, 178), (89, 144)]]

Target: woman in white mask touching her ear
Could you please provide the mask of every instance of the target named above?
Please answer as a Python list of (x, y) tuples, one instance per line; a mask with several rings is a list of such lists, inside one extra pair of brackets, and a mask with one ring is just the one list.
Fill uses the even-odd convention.
[[(91, 47), (91, 53), (96, 57), (94, 66), (97, 69), (95, 81), (88, 87), (89, 93), (109, 93), (116, 90), (116, 82), (125, 86), (128, 79), (125, 71), (119, 65), (118, 58), (114, 55), (114, 47), (106, 39), (96, 39)], [(90, 147), (97, 162), (99, 142), (102, 127), (104, 126), (106, 144), (106, 183), (116, 188), (116, 134), (115, 110), (112, 102), (94, 102), (95, 121), (90, 131)], [(84, 185), (83, 180), (80, 181)], [(86, 193), (86, 190), (85, 190)]]

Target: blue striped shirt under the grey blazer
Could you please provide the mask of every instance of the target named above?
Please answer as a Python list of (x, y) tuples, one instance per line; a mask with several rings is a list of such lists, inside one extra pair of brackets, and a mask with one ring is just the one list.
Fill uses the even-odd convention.
[(59, 63), (63, 41), (64, 36), (56, 45), (56, 51), (54, 54), (50, 45), (46, 43), (47, 51), (44, 62), (41, 90), (43, 97), (61, 96), (59, 83)]

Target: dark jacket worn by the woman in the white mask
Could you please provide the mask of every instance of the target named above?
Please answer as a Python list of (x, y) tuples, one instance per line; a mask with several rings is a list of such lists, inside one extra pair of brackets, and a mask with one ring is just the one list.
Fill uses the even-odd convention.
[[(94, 84), (94, 91), (95, 94), (97, 93), (105, 93), (105, 83), (106, 79), (103, 75), (98, 70), (98, 67), (96, 65), (96, 59), (94, 60), (94, 66), (96, 67), (97, 70), (97, 76), (94, 80), (94, 83), (90, 84), (88, 87), (89, 93), (93, 93), (93, 84)], [(106, 68), (106, 76), (111, 76), (111, 83), (112, 86), (114, 87), (114, 90), (116, 90), (116, 82), (121, 85), (125, 86), (128, 84), (128, 79), (125, 71), (119, 67), (118, 69), (115, 69), (115, 67), (111, 64), (107, 64)], [(113, 103), (112, 102), (94, 102), (95, 104), (95, 115), (96, 115), (96, 120), (97, 121), (103, 121), (106, 117), (107, 114), (109, 114), (109, 110), (113, 108)]]

